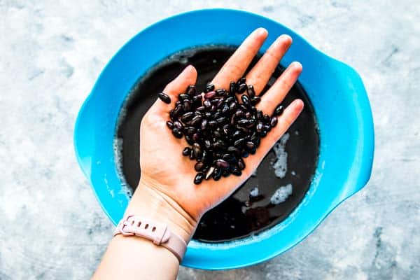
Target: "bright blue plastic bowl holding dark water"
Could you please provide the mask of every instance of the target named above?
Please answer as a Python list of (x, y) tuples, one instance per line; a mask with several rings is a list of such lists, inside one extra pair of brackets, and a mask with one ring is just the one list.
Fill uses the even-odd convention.
[(324, 55), (294, 31), (239, 10), (197, 10), (162, 20), (134, 36), (106, 65), (83, 104), (74, 132), (78, 163), (111, 221), (123, 217), (130, 198), (118, 176), (113, 151), (118, 114), (127, 94), (151, 66), (196, 45), (239, 45), (253, 29), (274, 39), (289, 34), (293, 45), (282, 59), (299, 61), (299, 80), (318, 120), (321, 147), (316, 174), (304, 200), (290, 216), (260, 235), (221, 244), (191, 241), (182, 265), (230, 269), (254, 265), (295, 246), (337, 205), (370, 178), (374, 151), (372, 112), (363, 82), (350, 66)]

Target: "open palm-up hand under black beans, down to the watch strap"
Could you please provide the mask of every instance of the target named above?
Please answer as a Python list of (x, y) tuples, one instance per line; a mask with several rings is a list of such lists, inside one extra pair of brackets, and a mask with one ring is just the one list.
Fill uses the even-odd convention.
[[(265, 38), (267, 38), (265, 29), (253, 31), (217, 73), (211, 84), (216, 88), (228, 89), (231, 80), (239, 80)], [(291, 43), (290, 36), (282, 35), (277, 38), (253, 69), (246, 74), (246, 83), (253, 85), (257, 95), (265, 87)], [(256, 105), (257, 109), (271, 115), (301, 71), (300, 63), (290, 64), (262, 96), (261, 102)], [(127, 209), (127, 213), (143, 214), (167, 223), (169, 228), (186, 241), (193, 235), (201, 216), (228, 197), (251, 176), (303, 108), (303, 102), (296, 99), (284, 110), (276, 127), (267, 134), (267, 137), (261, 139), (255, 155), (249, 155), (244, 159), (246, 168), (242, 170), (241, 176), (231, 175), (223, 177), (220, 181), (211, 179), (195, 185), (193, 183), (196, 174), (195, 160), (182, 156), (183, 148), (189, 145), (185, 139), (175, 138), (167, 128), (166, 122), (169, 120), (169, 110), (174, 108), (178, 95), (185, 92), (188, 85), (194, 85), (196, 79), (197, 71), (193, 66), (188, 66), (163, 90), (171, 97), (172, 103), (165, 104), (158, 99), (141, 121), (141, 179)]]

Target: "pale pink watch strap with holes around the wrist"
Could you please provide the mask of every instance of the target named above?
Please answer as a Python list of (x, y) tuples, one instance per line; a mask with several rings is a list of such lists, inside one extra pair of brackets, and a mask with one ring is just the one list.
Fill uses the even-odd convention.
[(135, 235), (149, 239), (153, 241), (154, 244), (162, 245), (174, 253), (176, 258), (178, 258), (179, 263), (181, 263), (187, 248), (186, 241), (179, 237), (179, 235), (171, 232), (167, 225), (156, 223), (141, 216), (130, 215), (123, 218), (120, 223), (118, 223), (113, 235)]

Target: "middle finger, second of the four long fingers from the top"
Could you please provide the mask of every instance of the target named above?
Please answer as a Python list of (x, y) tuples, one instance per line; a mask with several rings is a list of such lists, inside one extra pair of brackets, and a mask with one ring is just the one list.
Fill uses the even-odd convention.
[(276, 38), (276, 41), (270, 45), (265, 54), (258, 60), (257, 64), (255, 64), (253, 69), (246, 75), (246, 83), (248, 83), (248, 85), (253, 85), (257, 95), (262, 92), (291, 44), (292, 38), (288, 35), (281, 35), (279, 38)]

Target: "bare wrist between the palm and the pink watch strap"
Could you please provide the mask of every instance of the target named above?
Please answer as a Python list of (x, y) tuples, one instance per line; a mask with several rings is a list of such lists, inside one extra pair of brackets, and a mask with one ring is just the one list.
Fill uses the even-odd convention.
[(161, 190), (154, 183), (141, 179), (125, 214), (144, 216), (158, 223), (165, 223), (169, 230), (188, 244), (197, 227), (197, 221)]

